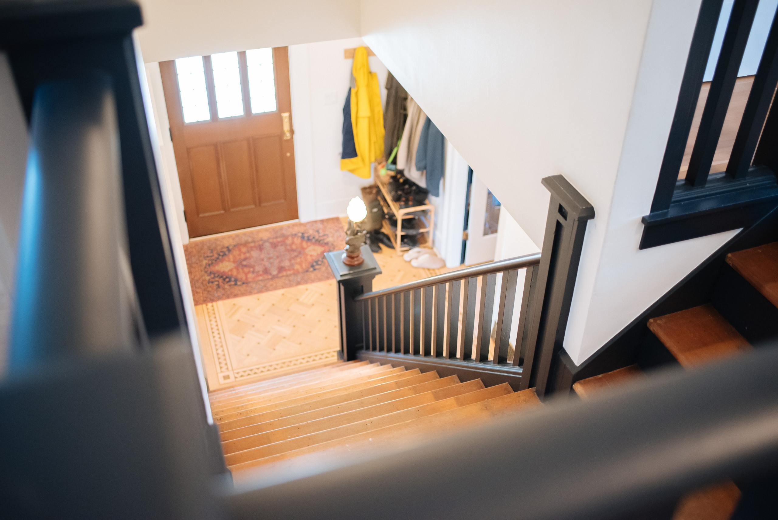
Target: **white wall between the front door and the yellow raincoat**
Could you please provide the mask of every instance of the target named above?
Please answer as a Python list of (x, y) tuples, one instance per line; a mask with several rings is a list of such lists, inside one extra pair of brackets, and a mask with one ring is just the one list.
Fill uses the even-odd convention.
[[(340, 169), (343, 104), (352, 67), (343, 50), (363, 44), (361, 38), (350, 38), (289, 46), (297, 211), (303, 222), (345, 215), (359, 187), (373, 182)], [(369, 61), (383, 103), (387, 69), (378, 58)]]

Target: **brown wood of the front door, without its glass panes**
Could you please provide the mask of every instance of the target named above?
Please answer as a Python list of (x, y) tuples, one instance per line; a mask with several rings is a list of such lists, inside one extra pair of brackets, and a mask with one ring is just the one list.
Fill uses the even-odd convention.
[[(250, 81), (254, 79), (248, 75), (246, 53), (239, 52), (244, 115), (219, 118), (212, 60), (204, 56), (202, 63), (202, 81), (187, 84), (201, 89), (201, 100), (207, 93), (210, 119), (191, 123), (184, 123), (176, 62), (159, 63), (189, 236), (296, 219), (294, 139), (285, 139), (282, 124), (282, 114), (291, 112), (286, 47), (272, 49), (275, 111), (252, 113)], [(269, 69), (263, 70), (262, 81), (269, 81)], [(191, 90), (185, 92), (190, 99)], [(267, 95), (266, 87), (263, 92)]]

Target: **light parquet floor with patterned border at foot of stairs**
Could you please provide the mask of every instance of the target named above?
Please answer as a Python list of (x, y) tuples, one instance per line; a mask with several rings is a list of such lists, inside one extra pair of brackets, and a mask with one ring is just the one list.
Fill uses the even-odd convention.
[[(375, 254), (382, 273), (373, 290), (454, 269), (417, 269), (393, 250)], [(198, 305), (200, 343), (209, 388), (307, 370), (337, 360), (335, 280)]]

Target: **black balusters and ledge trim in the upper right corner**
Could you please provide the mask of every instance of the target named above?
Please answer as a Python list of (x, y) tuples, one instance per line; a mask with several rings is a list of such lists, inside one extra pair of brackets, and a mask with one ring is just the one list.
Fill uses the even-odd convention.
[[(778, 204), (775, 182), (778, 160), (773, 139), (778, 133), (778, 117), (773, 115), (776, 110), (767, 114), (775, 87), (774, 78), (778, 76), (775, 23), (738, 129), (737, 146), (731, 153), (727, 172), (708, 174), (758, 4), (756, 0), (737, 0), (734, 4), (689, 170), (685, 179), (678, 181), (721, 4), (720, 0), (703, 0), (700, 6), (654, 201), (650, 214), (643, 217), (640, 249), (748, 227)], [(767, 123), (762, 139), (756, 146), (765, 118)], [(753, 167), (750, 166), (752, 156)]]

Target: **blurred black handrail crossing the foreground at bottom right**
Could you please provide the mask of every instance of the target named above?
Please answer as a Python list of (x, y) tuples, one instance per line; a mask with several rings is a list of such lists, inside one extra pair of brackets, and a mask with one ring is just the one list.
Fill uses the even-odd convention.
[(556, 402), (390, 455), (277, 470), (272, 480), (227, 497), (230, 518), (626, 515), (774, 467), (776, 374), (778, 349), (759, 350), (695, 371), (669, 369), (600, 399)]

